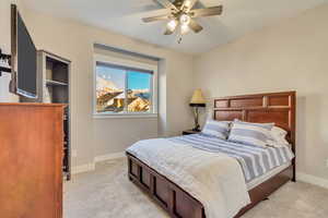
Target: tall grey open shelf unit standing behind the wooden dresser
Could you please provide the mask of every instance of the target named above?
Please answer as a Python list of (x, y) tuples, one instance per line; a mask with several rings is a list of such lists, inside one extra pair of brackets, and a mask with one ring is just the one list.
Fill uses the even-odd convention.
[(37, 98), (21, 97), (23, 102), (66, 104), (63, 116), (63, 175), (71, 178), (71, 146), (70, 146), (70, 64), (65, 58), (45, 50), (37, 52)]

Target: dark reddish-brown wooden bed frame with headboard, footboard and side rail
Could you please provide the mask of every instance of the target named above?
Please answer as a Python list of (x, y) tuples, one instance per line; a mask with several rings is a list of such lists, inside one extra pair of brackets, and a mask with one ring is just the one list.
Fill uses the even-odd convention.
[[(248, 122), (274, 122), (288, 131), (288, 140), (295, 153), (295, 92), (269, 93), (257, 95), (232, 96), (214, 99), (214, 119)], [(127, 153), (129, 179), (163, 207), (172, 218), (206, 218), (202, 204), (156, 172), (150, 166)], [(241, 217), (259, 202), (278, 190), (288, 181), (295, 181), (295, 158), (292, 165), (271, 179), (251, 189), (248, 193), (251, 203), (241, 209), (235, 218)]]

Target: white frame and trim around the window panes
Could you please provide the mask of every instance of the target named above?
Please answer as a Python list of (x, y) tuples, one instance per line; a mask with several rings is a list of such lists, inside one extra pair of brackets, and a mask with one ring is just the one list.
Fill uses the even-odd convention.
[[(151, 96), (152, 96), (152, 111), (150, 112), (97, 112), (96, 111), (96, 66), (97, 62), (102, 62), (104, 64), (113, 64), (113, 65), (122, 65), (131, 69), (140, 69), (145, 71), (152, 71), (153, 76), (151, 81)], [(142, 63), (134, 60), (121, 59), (116, 57), (103, 56), (103, 55), (94, 55), (94, 68), (93, 68), (93, 104), (92, 111), (93, 118), (103, 119), (103, 118), (157, 118), (157, 105), (159, 105), (159, 75), (157, 75), (159, 66), (148, 63)], [(127, 86), (127, 81), (126, 81)], [(126, 87), (125, 87), (126, 89)], [(127, 107), (127, 106), (126, 106)]]

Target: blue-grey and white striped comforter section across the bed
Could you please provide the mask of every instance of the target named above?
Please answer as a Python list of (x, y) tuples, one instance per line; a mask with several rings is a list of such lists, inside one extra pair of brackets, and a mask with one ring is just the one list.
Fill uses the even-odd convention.
[(235, 158), (242, 166), (245, 180), (249, 182), (266, 172), (291, 161), (293, 153), (284, 147), (258, 147), (232, 143), (204, 134), (192, 134), (167, 138), (177, 144), (187, 144), (211, 153), (224, 153)]

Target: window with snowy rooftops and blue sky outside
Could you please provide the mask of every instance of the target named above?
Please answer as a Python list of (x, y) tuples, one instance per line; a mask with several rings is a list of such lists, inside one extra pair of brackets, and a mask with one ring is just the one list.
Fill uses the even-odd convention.
[(156, 113), (156, 66), (96, 58), (96, 116)]

